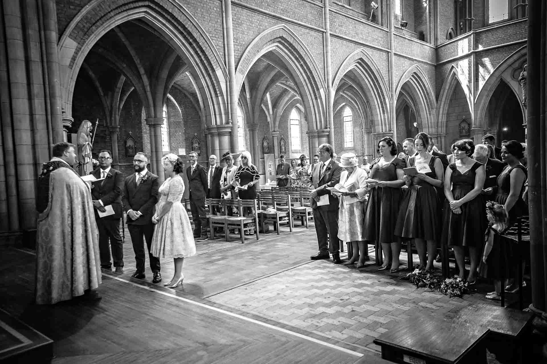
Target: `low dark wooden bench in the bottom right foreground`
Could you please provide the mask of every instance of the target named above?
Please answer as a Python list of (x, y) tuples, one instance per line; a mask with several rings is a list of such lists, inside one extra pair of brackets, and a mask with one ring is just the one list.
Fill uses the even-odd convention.
[(382, 348), (383, 359), (397, 363), (486, 364), (487, 348), (496, 351), (496, 345), (513, 344), (513, 351), (521, 350), (531, 333), (532, 320), (528, 312), (478, 303), (452, 318), (444, 313), (413, 315), (374, 343)]

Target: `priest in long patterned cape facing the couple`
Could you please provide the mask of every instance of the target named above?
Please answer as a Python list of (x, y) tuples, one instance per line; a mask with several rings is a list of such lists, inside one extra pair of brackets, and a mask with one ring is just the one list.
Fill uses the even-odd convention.
[[(38, 178), (36, 209), (37, 304), (82, 296), (100, 299), (101, 260), (95, 213), (88, 185), (72, 169), (76, 147), (53, 146), (53, 158)], [(87, 291), (87, 292), (86, 292)]]

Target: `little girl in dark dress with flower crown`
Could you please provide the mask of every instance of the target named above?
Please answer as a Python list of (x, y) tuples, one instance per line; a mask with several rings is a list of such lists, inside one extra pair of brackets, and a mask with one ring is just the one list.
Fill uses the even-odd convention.
[(486, 203), (486, 216), (490, 224), (488, 224), (485, 232), (485, 244), (479, 274), (482, 277), (494, 279), (494, 291), (487, 293), (486, 298), (500, 301), (501, 279), (502, 277), (509, 278), (510, 274), (510, 242), (502, 235), (507, 229), (509, 216), (503, 205), (492, 201)]

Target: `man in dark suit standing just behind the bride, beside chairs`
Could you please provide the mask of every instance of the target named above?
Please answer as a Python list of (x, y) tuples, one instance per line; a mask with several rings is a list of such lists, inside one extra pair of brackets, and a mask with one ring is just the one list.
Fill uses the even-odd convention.
[(207, 170), (197, 163), (197, 152), (191, 151), (188, 154), (188, 160), (190, 166), (186, 169), (186, 177), (188, 178), (190, 209), (194, 220), (194, 239), (196, 242), (203, 242), (208, 239), (207, 215), (205, 213), (205, 198), (209, 190)]

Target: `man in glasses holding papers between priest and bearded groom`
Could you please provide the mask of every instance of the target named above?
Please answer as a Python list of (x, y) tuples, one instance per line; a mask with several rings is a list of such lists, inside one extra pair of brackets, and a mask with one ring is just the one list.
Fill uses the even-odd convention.
[[(95, 207), (95, 221), (99, 231), (99, 251), (101, 256), (101, 268), (112, 269), (110, 262), (110, 249), (116, 273), (123, 273), (124, 246), (120, 236), (121, 219), (121, 189), (124, 188), (124, 176), (120, 171), (110, 167), (112, 154), (109, 150), (99, 152), (99, 168), (90, 174), (97, 179), (91, 184), (91, 196)], [(112, 207), (112, 215), (106, 213), (105, 206)], [(110, 244), (108, 244), (110, 239)]]

